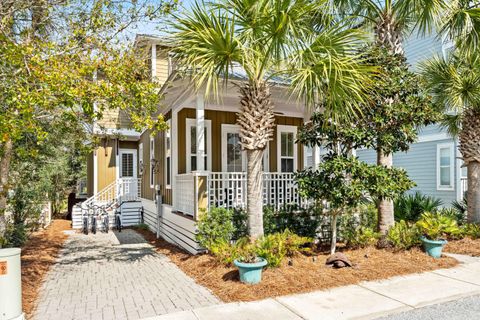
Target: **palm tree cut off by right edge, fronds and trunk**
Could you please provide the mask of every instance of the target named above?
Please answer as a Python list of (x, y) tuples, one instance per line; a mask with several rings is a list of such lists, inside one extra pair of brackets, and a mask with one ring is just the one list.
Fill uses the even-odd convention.
[(480, 222), (480, 54), (457, 50), (449, 57), (435, 57), (421, 65), (430, 93), (439, 106), (456, 111), (445, 124), (460, 139), (467, 166), (467, 219)]

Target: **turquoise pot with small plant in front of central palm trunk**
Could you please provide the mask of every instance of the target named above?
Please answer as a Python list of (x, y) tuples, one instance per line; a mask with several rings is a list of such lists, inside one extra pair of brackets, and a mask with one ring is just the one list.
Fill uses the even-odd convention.
[(254, 244), (245, 244), (241, 247), (238, 258), (234, 260), (240, 274), (240, 281), (247, 284), (256, 284), (262, 280), (262, 270), (267, 260), (257, 255)]

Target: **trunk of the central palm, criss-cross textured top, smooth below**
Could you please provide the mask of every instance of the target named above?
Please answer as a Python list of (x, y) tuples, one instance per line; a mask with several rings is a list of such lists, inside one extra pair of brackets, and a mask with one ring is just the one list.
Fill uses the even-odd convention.
[(263, 235), (263, 150), (273, 137), (275, 116), (270, 91), (264, 82), (240, 87), (240, 125), (242, 148), (247, 151), (247, 214), (250, 238)]

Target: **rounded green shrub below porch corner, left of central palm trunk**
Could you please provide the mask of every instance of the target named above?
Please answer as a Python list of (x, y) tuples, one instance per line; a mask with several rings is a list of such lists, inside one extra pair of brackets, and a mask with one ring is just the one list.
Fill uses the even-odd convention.
[(208, 250), (216, 244), (229, 243), (235, 231), (232, 220), (232, 211), (225, 208), (213, 208), (202, 214), (197, 222), (197, 241)]

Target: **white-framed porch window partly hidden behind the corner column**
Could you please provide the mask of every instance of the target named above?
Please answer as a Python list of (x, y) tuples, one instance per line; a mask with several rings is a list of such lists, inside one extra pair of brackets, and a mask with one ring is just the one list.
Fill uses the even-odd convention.
[[(197, 121), (196, 119), (186, 119), (186, 154), (187, 154), (187, 173), (197, 170)], [(211, 170), (211, 143), (212, 136), (211, 121), (205, 120), (204, 150), (205, 157), (203, 165), (205, 170)]]

